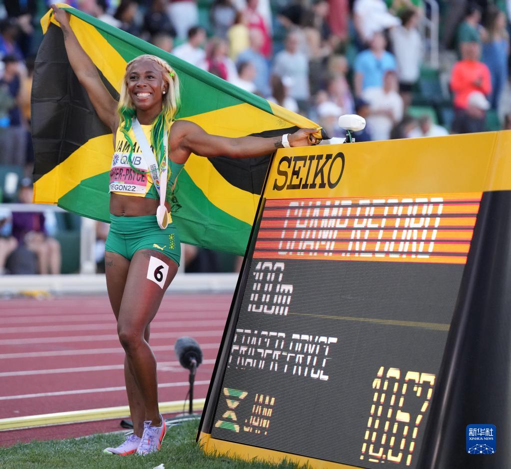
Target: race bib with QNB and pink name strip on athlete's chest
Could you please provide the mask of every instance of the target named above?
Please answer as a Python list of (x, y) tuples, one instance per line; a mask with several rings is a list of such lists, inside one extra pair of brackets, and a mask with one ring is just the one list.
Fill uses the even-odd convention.
[[(140, 171), (147, 171), (146, 160), (141, 154), (131, 155), (133, 166)], [(145, 194), (147, 174), (134, 171), (128, 162), (128, 153), (114, 153), (110, 169), (110, 192), (127, 192)]]

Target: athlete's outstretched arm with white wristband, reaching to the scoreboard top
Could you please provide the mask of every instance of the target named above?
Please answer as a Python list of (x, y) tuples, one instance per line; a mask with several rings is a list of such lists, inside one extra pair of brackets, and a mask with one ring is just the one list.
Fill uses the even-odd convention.
[[(298, 129), (289, 134), (291, 147), (311, 145), (308, 137), (317, 129)], [(314, 137), (311, 138), (315, 141)], [(170, 148), (176, 162), (184, 162), (190, 153), (199, 156), (229, 156), (249, 158), (273, 153), (282, 148), (282, 135), (277, 137), (221, 137), (208, 134), (202, 127), (190, 121), (177, 121), (171, 128)]]

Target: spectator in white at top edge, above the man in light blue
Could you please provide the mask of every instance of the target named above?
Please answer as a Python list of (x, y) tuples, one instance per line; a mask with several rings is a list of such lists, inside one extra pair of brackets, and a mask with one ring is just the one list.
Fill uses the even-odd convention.
[(353, 23), (361, 43), (367, 44), (375, 33), (398, 26), (400, 20), (388, 12), (383, 0), (355, 0)]

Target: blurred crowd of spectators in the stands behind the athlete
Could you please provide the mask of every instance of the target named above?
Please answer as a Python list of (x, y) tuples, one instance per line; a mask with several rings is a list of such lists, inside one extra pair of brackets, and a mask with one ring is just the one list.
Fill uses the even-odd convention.
[[(430, 60), (435, 42), (425, 27), (431, 2), (440, 8), (438, 63)], [(0, 8), (0, 168), (19, 168), (20, 187), (32, 171), (31, 77), (49, 3)], [(330, 137), (343, 136), (337, 118), (350, 113), (367, 122), (357, 142), (511, 129), (511, 0), (66, 3), (308, 116)], [(42, 261), (33, 236), (15, 234), (14, 220), (15, 214), (0, 219), (0, 271), (19, 246), (36, 254), (38, 272), (58, 271), (60, 251), (50, 235), (42, 230), (39, 238), (54, 257)], [(214, 268), (200, 250), (191, 256), (211, 264), (199, 270)]]

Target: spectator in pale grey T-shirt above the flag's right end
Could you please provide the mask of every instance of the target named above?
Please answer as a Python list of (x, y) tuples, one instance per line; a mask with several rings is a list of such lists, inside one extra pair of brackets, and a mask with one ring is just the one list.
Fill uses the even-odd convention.
[(299, 37), (297, 32), (290, 32), (286, 37), (286, 49), (275, 56), (273, 73), (282, 77), (292, 78), (290, 95), (297, 101), (298, 107), (307, 110), (309, 92), (309, 59), (298, 51)]

